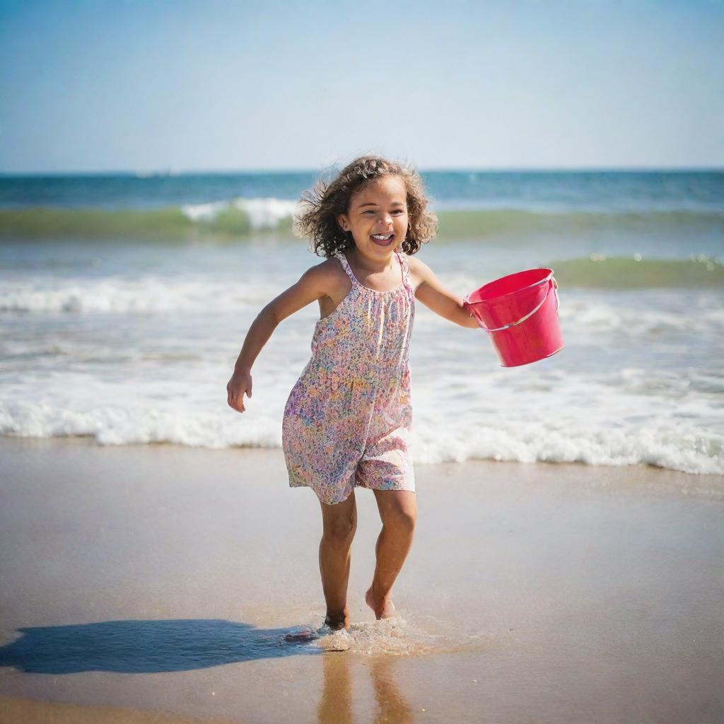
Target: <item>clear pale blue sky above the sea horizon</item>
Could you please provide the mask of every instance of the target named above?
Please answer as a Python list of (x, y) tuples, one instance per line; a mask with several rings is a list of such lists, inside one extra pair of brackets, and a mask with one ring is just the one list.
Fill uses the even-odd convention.
[(0, 172), (724, 166), (724, 2), (0, 0)]

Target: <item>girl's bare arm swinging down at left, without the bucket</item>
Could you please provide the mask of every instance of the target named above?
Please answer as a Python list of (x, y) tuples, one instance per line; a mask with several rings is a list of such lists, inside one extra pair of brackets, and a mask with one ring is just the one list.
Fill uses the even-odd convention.
[(244, 412), (244, 395), (251, 397), (251, 366), (261, 348), (271, 337), (277, 324), (316, 299), (327, 296), (334, 283), (332, 267), (321, 262), (302, 274), (299, 281), (267, 304), (251, 323), (227, 384), (227, 402), (238, 412)]

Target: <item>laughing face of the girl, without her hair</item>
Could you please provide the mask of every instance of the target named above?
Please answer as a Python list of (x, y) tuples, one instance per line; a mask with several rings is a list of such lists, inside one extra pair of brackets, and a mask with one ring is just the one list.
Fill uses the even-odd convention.
[(407, 190), (399, 176), (386, 176), (353, 194), (337, 223), (351, 231), (361, 256), (383, 261), (403, 243), (408, 228)]

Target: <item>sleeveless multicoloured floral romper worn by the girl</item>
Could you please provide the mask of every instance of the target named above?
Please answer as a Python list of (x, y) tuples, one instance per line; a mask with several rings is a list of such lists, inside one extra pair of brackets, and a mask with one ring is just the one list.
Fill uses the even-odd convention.
[(355, 487), (415, 490), (408, 354), (415, 317), (407, 256), (395, 251), (402, 284), (387, 292), (352, 282), (320, 319), (312, 356), (287, 399), (282, 447), (290, 487), (311, 487), (321, 502), (347, 500)]

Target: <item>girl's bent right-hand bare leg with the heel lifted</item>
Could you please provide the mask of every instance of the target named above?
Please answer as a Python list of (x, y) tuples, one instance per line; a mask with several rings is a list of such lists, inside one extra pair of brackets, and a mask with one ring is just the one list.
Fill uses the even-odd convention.
[(412, 546), (417, 497), (409, 490), (375, 490), (374, 496), (382, 531), (377, 539), (374, 578), (365, 599), (376, 618), (390, 618), (395, 615), (390, 591)]

